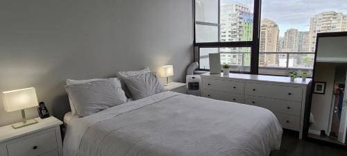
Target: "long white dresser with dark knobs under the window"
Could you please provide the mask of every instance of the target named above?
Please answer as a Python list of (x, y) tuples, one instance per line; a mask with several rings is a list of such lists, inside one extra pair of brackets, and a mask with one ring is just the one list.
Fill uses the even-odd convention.
[(277, 116), (282, 128), (296, 130), (303, 137), (307, 92), (312, 79), (240, 73), (201, 75), (201, 96), (222, 101), (264, 107)]

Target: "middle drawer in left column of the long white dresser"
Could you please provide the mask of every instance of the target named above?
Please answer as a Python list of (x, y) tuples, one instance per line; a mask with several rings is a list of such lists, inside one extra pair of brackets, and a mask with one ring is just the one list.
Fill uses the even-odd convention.
[(213, 98), (221, 101), (230, 101), (235, 103), (244, 103), (244, 96), (242, 94), (235, 94), (229, 92), (217, 92), (214, 90), (203, 89), (202, 95), (206, 98)]

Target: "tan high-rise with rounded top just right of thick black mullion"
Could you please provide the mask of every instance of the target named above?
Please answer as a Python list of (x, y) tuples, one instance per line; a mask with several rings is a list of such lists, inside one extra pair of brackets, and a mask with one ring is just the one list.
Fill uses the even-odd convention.
[[(278, 25), (270, 19), (262, 19), (260, 22), (260, 52), (276, 52), (278, 49)], [(262, 66), (276, 64), (276, 55), (261, 54), (259, 61)]]

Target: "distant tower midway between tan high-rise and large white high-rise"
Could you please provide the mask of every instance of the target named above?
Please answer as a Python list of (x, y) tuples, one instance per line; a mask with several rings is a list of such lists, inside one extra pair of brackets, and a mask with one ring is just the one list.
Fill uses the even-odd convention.
[(284, 52), (297, 52), (298, 51), (298, 37), (299, 31), (296, 28), (291, 28), (285, 31), (285, 38), (283, 40)]

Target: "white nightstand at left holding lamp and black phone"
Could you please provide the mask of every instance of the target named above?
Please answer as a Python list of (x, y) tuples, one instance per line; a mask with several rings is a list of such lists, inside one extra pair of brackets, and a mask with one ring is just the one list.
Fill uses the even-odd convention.
[(24, 128), (0, 128), (0, 156), (62, 156), (62, 121), (53, 116), (35, 120)]

